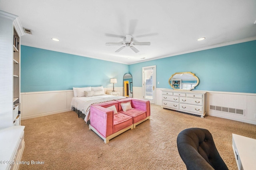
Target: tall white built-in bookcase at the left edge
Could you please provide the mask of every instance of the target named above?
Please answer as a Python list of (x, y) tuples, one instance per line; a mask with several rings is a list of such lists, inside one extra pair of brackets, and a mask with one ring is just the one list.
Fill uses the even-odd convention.
[(20, 125), (14, 105), (20, 105), (20, 36), (18, 16), (0, 10), (0, 128)]

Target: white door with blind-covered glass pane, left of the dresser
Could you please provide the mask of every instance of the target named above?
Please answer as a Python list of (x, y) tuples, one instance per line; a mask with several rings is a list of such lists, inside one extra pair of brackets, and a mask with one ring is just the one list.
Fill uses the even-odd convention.
[(155, 104), (156, 66), (142, 67), (143, 98)]

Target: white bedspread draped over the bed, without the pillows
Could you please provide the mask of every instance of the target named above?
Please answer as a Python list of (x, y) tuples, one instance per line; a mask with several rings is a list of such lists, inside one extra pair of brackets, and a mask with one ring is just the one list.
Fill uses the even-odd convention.
[(71, 109), (74, 107), (82, 113), (85, 114), (84, 121), (90, 119), (90, 106), (96, 103), (108, 102), (112, 100), (120, 100), (126, 97), (123, 96), (112, 96), (112, 95), (100, 95), (100, 96), (91, 96), (91, 97), (73, 97), (71, 100)]

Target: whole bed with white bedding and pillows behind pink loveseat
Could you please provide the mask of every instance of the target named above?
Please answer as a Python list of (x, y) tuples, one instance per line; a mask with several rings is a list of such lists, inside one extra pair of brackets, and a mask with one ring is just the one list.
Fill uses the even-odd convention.
[(85, 115), (84, 121), (86, 121), (86, 123), (90, 119), (90, 106), (92, 104), (127, 98), (124, 96), (112, 96), (105, 94), (103, 86), (73, 88), (73, 91), (74, 97), (71, 100), (71, 109), (77, 109), (78, 116), (79, 111), (82, 112)]

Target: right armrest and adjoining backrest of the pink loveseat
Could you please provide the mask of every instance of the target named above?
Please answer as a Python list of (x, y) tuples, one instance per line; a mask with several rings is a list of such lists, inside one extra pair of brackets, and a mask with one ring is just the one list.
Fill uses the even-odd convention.
[(146, 111), (146, 117), (150, 116), (150, 102), (148, 100), (136, 99), (136, 98), (126, 98), (122, 100), (118, 100), (118, 109), (122, 111), (121, 103), (131, 102), (132, 108), (138, 110)]

